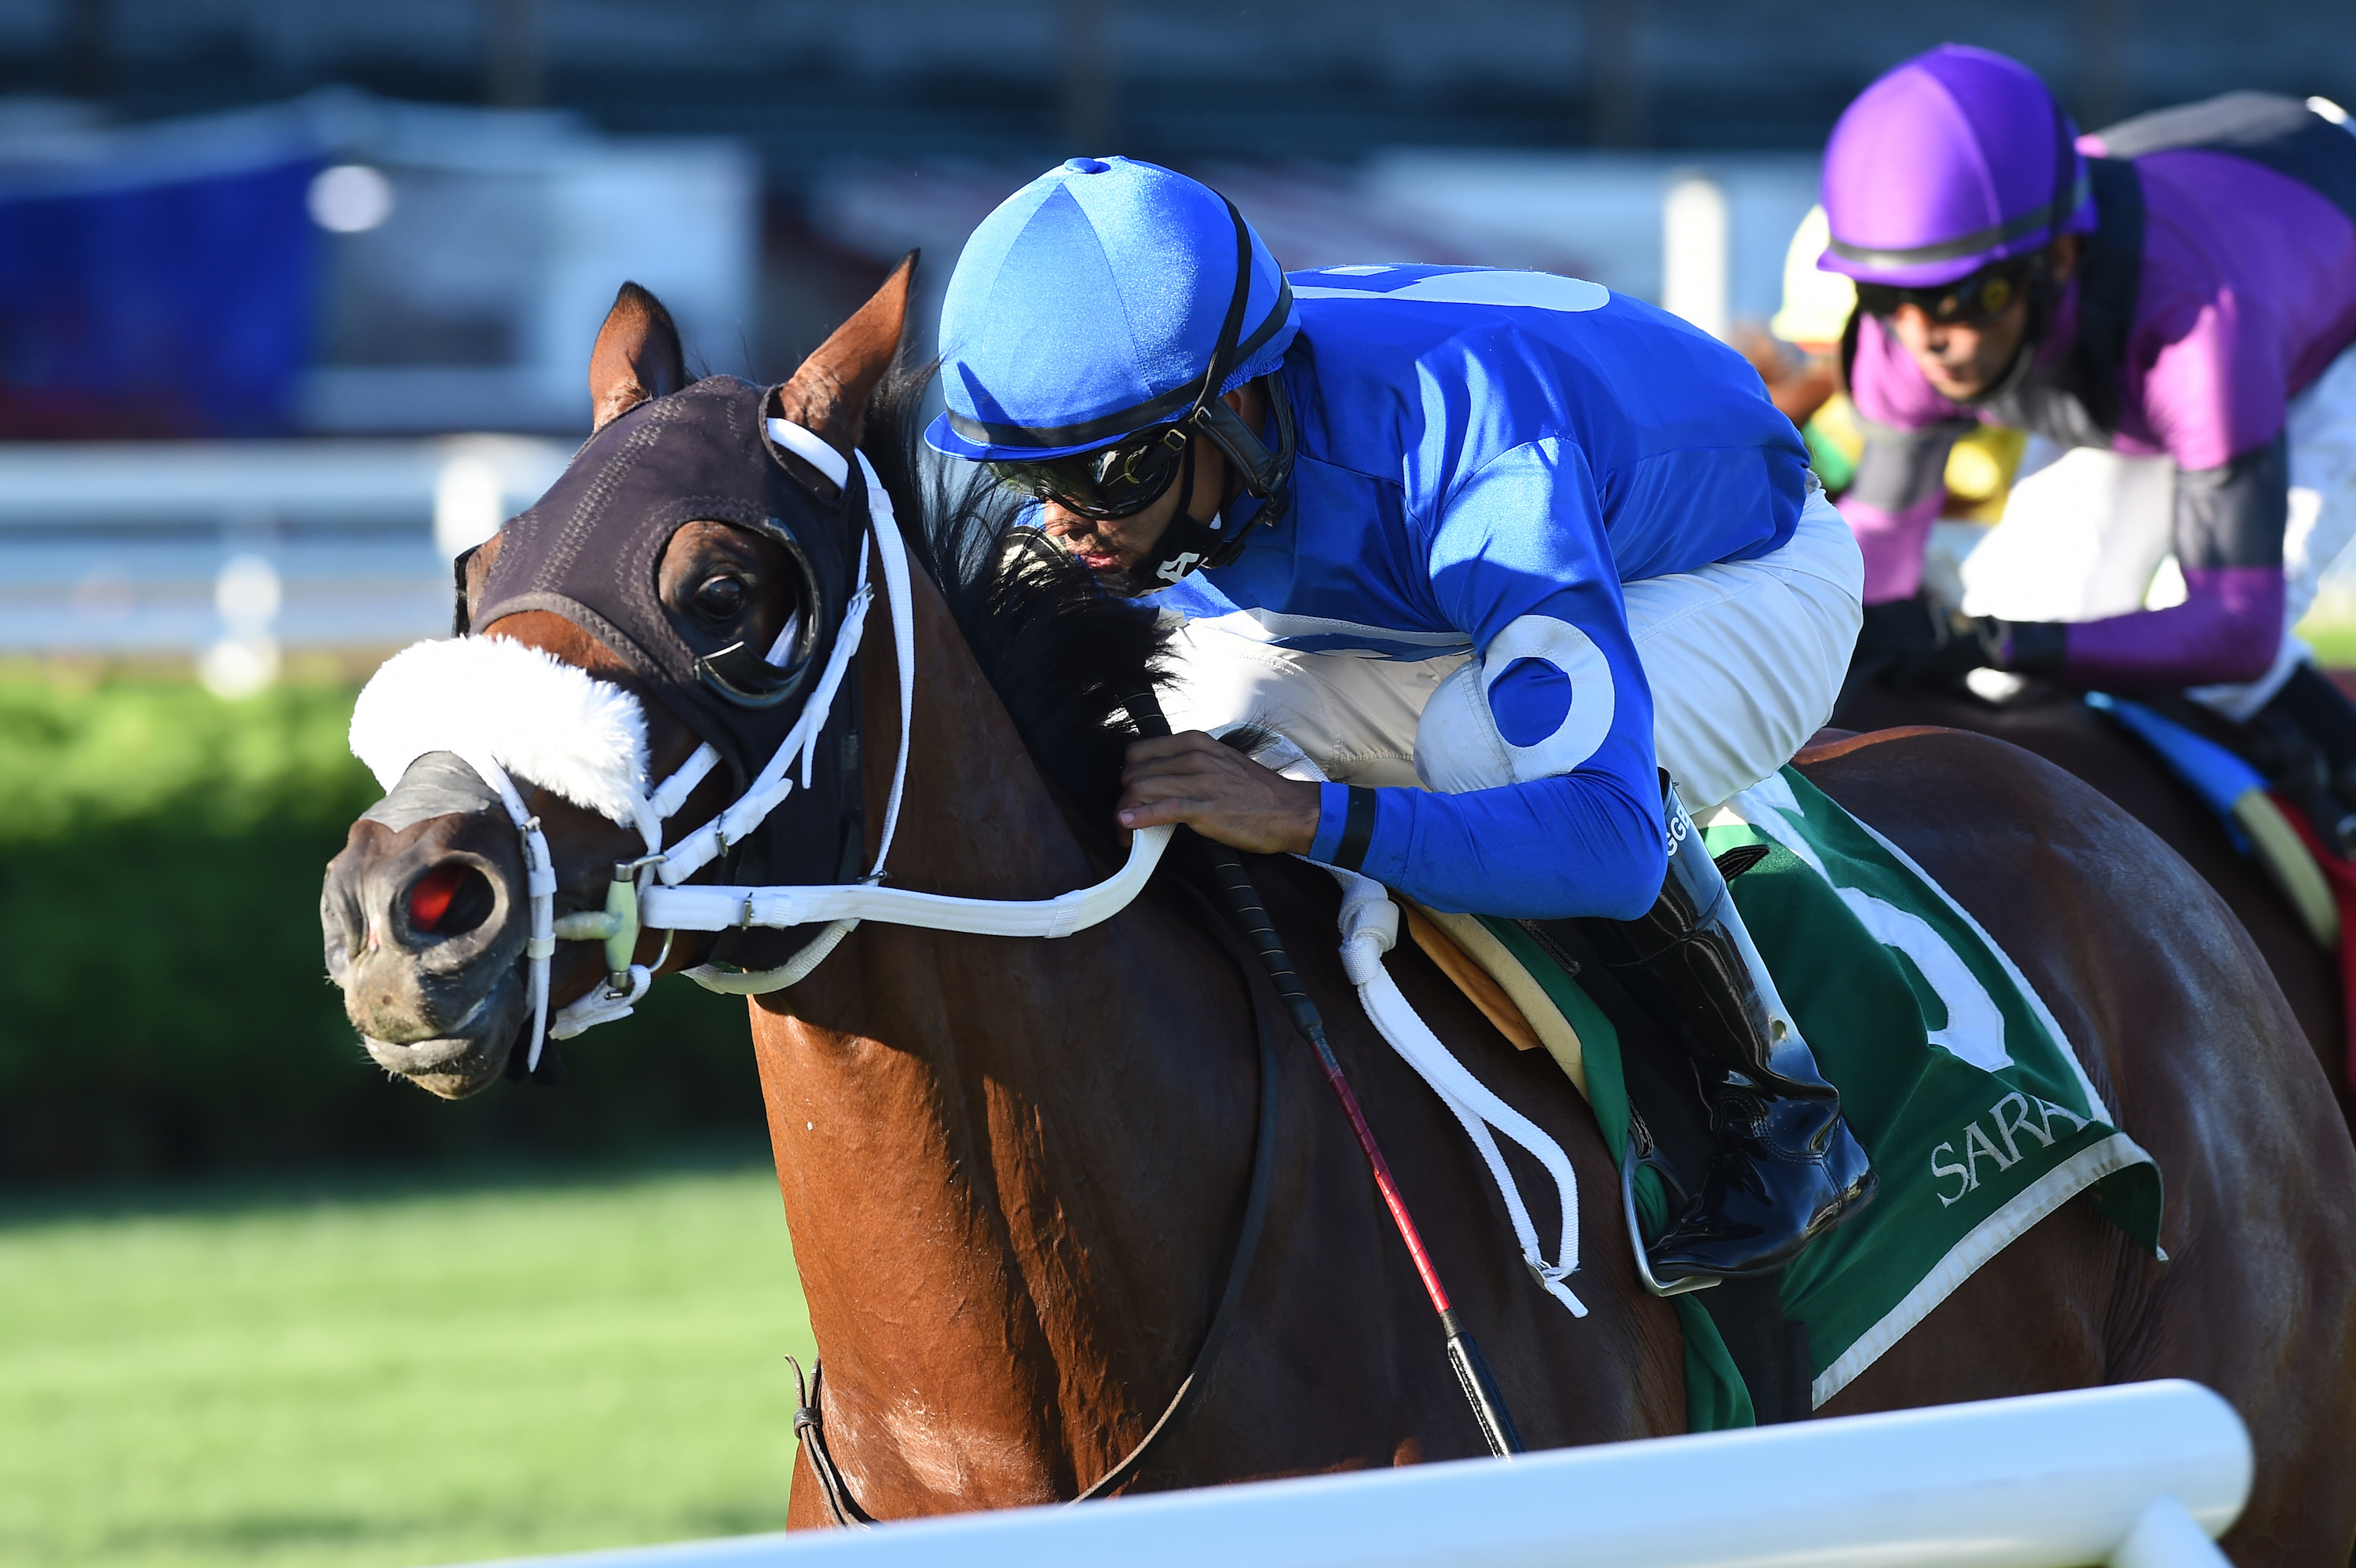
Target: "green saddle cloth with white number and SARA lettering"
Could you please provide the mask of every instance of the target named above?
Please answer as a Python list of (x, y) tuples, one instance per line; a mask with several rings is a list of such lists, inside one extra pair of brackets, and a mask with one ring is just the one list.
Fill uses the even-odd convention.
[[(1732, 883), (1734, 904), (1880, 1172), (1875, 1198), (1783, 1271), (1783, 1316), (1807, 1323), (1816, 1406), (2080, 1191), (2165, 1257), (2158, 1163), (2116, 1128), (2052, 1012), (1960, 904), (1795, 768), (1713, 822), (1710, 855), (1767, 848)], [(1619, 1034), (1520, 925), (1482, 923), (1579, 1029), (1588, 1099), (1621, 1156)], [(1659, 1177), (1640, 1170), (1635, 1194), (1644, 1234), (1659, 1236)], [(1708, 1311), (1694, 1295), (1675, 1307), (1692, 1429), (1751, 1427), (1751, 1394)]]

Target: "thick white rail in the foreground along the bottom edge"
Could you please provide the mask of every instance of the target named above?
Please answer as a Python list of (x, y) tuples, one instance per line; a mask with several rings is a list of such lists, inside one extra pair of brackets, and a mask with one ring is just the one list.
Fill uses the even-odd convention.
[(2250, 1436), (2191, 1382), (1265, 1481), (568, 1568), (2219, 1568)]

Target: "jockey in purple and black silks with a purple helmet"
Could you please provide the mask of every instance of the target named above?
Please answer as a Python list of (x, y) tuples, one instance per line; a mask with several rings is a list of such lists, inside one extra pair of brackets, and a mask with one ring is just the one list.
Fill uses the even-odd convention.
[[(2318, 786), (2309, 810), (2351, 845), (2356, 711), (2290, 636), (2356, 537), (2356, 134), (2325, 111), (2226, 94), (2078, 137), (2033, 71), (1946, 45), (1833, 129), (1819, 266), (1859, 301), (1842, 353), (1864, 452), (1840, 504), (1866, 556), (1859, 673), (2191, 690), (2262, 765), (2285, 737), (2318, 753), (2337, 798)], [(2021, 530), (2024, 478), (1998, 530), (2026, 534), (2031, 574), (2120, 574), (2073, 560), (2066, 527), (2102, 542), (2078, 556), (2135, 553), (2127, 603), (1965, 622), (1918, 598), (1941, 464), (1974, 424), (2076, 450), (2080, 478), (2151, 469), (2158, 485), (2080, 485), (2062, 509), (2151, 516)], [(2144, 607), (2170, 551), (2182, 600)]]

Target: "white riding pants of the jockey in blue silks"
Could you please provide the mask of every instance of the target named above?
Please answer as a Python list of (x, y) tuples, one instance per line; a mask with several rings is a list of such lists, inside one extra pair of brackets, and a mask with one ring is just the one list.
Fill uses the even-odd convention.
[[(1833, 713), (1864, 596), (1857, 537), (1812, 490), (1783, 549), (1621, 586), (1661, 768), (1706, 810), (1791, 760)], [(1242, 631), (1235, 631), (1235, 629)], [(1256, 723), (1341, 784), (1440, 791), (1527, 782), (1463, 652), (1293, 652), (1246, 617), (1190, 622), (1162, 706), (1176, 730)]]

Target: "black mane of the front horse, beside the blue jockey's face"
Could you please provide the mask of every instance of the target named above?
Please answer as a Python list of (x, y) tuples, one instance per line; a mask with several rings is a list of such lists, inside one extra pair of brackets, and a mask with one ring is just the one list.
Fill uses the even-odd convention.
[(931, 370), (895, 367), (876, 388), (860, 443), (893, 497), (909, 553), (940, 584), (990, 687), (1041, 772), (1093, 822), (1121, 793), (1136, 739), (1124, 697), (1169, 657), (1169, 631), (1114, 598), (1088, 567), (1015, 527), (1023, 497), (980, 464), (924, 447)]

